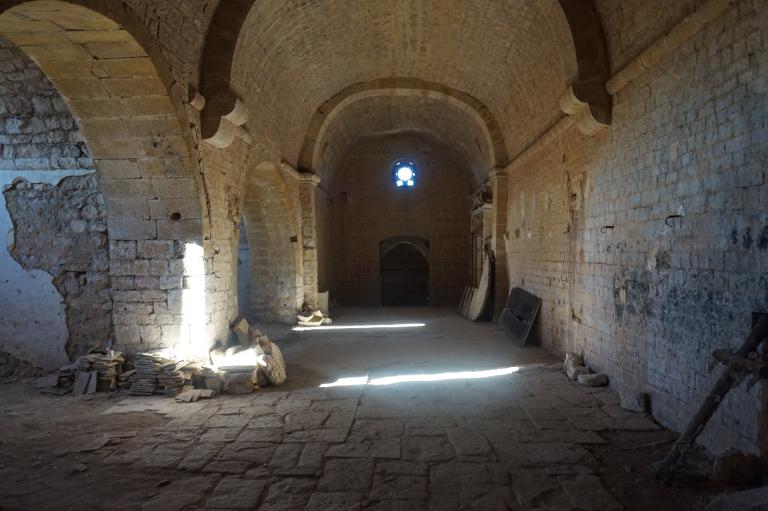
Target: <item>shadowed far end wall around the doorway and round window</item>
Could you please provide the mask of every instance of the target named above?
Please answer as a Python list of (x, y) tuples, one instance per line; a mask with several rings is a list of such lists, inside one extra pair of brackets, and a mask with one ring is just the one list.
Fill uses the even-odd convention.
[[(392, 181), (399, 158), (419, 165), (412, 189), (397, 189)], [(431, 303), (459, 302), (469, 279), (471, 178), (458, 155), (414, 134), (376, 138), (349, 153), (331, 190), (334, 300), (379, 305), (379, 243), (417, 236), (430, 242)]]

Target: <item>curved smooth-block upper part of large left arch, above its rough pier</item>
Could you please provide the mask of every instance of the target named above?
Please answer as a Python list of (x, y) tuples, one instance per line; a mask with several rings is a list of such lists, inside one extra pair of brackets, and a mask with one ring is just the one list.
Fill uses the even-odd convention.
[(6, 10), (0, 35), (29, 55), (67, 101), (108, 201), (110, 238), (201, 238), (200, 195), (179, 120), (133, 35), (61, 1)]

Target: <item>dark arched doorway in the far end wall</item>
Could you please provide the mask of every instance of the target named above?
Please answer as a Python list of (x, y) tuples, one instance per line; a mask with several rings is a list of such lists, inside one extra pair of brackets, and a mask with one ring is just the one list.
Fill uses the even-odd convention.
[(400, 243), (381, 257), (381, 304), (385, 306), (429, 305), (429, 263), (410, 243)]

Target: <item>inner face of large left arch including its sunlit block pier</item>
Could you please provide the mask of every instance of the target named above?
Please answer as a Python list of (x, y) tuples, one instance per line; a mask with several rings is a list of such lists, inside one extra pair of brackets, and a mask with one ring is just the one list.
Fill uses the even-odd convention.
[[(185, 268), (201, 273), (204, 267), (187, 264), (185, 254), (194, 244), (195, 257), (204, 257), (205, 215), (188, 138), (153, 59), (108, 17), (127, 17), (127, 10), (116, 2), (80, 3), (87, 7), (5, 2), (0, 36), (30, 56), (60, 92), (93, 158), (107, 203), (117, 346), (133, 351), (190, 342), (182, 278), (191, 277)], [(205, 293), (202, 282), (198, 287)], [(194, 335), (200, 344), (208, 341), (207, 334)]]

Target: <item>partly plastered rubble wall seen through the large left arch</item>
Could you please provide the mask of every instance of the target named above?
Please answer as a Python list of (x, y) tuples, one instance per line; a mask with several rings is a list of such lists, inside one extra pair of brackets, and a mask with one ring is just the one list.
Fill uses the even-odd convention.
[(0, 39), (0, 70), (0, 365), (50, 369), (113, 340), (104, 198), (40, 68)]

